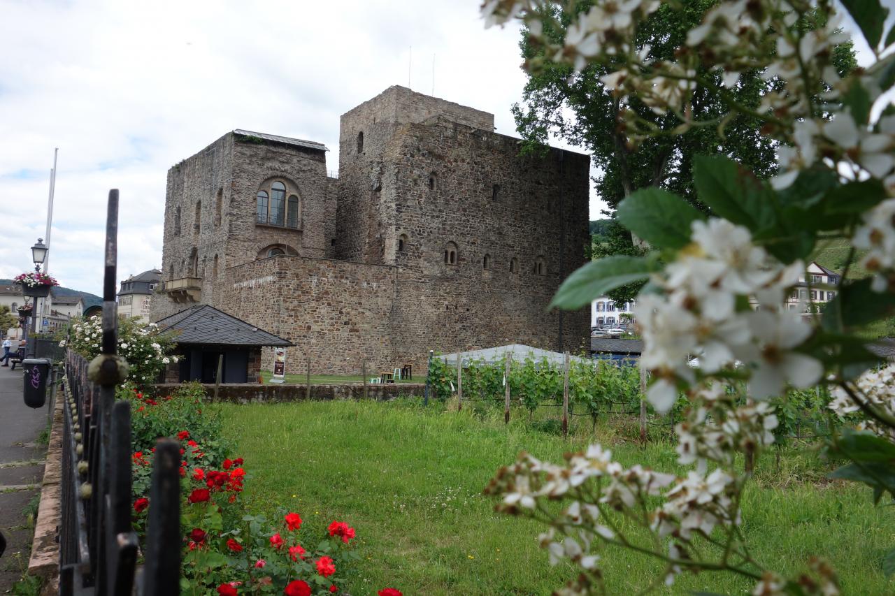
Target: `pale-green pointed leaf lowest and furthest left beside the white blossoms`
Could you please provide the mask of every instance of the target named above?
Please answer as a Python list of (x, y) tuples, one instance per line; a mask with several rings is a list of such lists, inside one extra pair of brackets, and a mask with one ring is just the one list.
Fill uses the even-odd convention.
[(655, 259), (616, 255), (592, 260), (567, 277), (559, 286), (549, 308), (575, 311), (610, 290), (641, 281), (661, 266)]

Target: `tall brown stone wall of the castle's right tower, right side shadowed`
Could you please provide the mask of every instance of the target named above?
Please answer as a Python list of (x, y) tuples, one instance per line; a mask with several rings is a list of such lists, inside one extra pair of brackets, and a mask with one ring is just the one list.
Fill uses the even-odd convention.
[[(396, 358), (416, 365), (429, 349), (509, 343), (582, 348), (588, 312), (547, 306), (584, 264), (587, 156), (520, 156), (517, 139), (444, 119), (402, 126), (388, 152), (383, 194), (396, 215), (387, 255), (401, 268)], [(456, 264), (445, 262), (449, 250)]]

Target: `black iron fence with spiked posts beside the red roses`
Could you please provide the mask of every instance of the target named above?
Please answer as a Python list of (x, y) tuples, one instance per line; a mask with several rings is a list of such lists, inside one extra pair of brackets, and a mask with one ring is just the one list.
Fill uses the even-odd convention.
[[(180, 446), (160, 439), (142, 546), (131, 524), (131, 404), (115, 401), (126, 364), (116, 356), (118, 192), (109, 192), (102, 353), (65, 355), (59, 593), (180, 592)], [(142, 557), (141, 569), (138, 562)]]

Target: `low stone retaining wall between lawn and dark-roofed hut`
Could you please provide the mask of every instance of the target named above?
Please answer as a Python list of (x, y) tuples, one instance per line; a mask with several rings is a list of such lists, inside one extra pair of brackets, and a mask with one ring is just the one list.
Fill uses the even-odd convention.
[[(163, 394), (174, 391), (180, 385), (161, 383), (152, 386)], [(209, 397), (215, 393), (214, 385), (202, 385)], [(385, 383), (367, 386), (367, 398), (385, 401), (397, 396), (422, 397), (424, 383)], [(245, 383), (222, 383), (217, 390), (217, 401), (247, 404), (250, 402), (299, 402), (307, 397), (306, 385), (278, 385), (265, 383), (253, 385)], [(311, 385), (311, 400), (326, 401), (330, 399), (362, 399), (362, 385)]]

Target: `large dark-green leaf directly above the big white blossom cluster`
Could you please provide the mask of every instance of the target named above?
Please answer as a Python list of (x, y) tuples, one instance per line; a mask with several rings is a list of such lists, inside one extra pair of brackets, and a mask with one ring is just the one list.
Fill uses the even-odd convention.
[(753, 234), (775, 226), (773, 191), (732, 159), (697, 155), (693, 180), (696, 196), (713, 215), (746, 226)]

